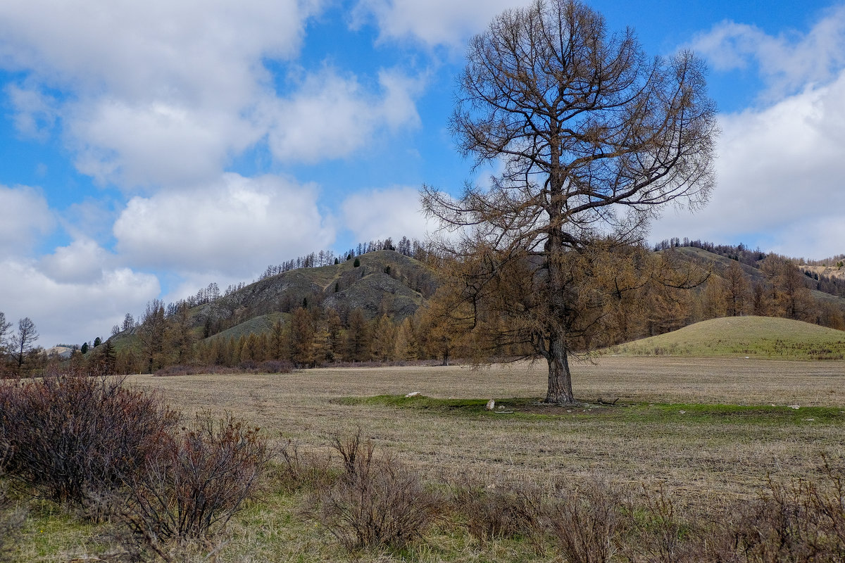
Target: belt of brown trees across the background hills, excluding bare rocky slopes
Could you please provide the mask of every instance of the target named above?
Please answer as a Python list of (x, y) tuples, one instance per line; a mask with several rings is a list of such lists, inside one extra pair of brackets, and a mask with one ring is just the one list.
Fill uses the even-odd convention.
[[(687, 252), (684, 248), (709, 252)], [(683, 328), (693, 322), (715, 317), (759, 315), (787, 317), (822, 326), (845, 330), (845, 307), (837, 298), (845, 298), (845, 279), (819, 275), (808, 266), (842, 268), (845, 255), (823, 261), (798, 263), (774, 253), (751, 250), (743, 244), (716, 245), (707, 241), (673, 238), (657, 243), (656, 253), (673, 253), (675, 260), (695, 264), (706, 273), (703, 283), (691, 290), (660, 284), (643, 284), (630, 299), (608, 302), (598, 307), (595, 322), (601, 323), (602, 342), (583, 342), (585, 349), (597, 344), (611, 345)], [(527, 346), (509, 344), (495, 349), (483, 343), (479, 334), (449, 320), (450, 307), (435, 293), (438, 271), (444, 257), (431, 246), (402, 237), (368, 241), (335, 255), (331, 251), (312, 252), (270, 265), (252, 283), (272, 278), (298, 268), (322, 268), (353, 261), (355, 278), (372, 269), (361, 268), (358, 261), (368, 253), (399, 252), (418, 261), (415, 271), (399, 272), (385, 268), (390, 278), (423, 295), (423, 306), (411, 317), (391, 317), (387, 311), (377, 315), (365, 313), (355, 306), (332, 308), (323, 306), (325, 292), (306, 295), (300, 300), (282, 296), (275, 308), (264, 310), (245, 303), (240, 314), (197, 325), (197, 307), (241, 292), (248, 284), (233, 284), (221, 291), (211, 283), (183, 300), (164, 304), (151, 301), (137, 321), (127, 313), (121, 325), (112, 328), (112, 338), (94, 338), (81, 346), (72, 345), (69, 360), (48, 357), (43, 349), (24, 350), (25, 354), (4, 345), (0, 371), (8, 375), (36, 375), (45, 371), (96, 371), (101, 373), (137, 373), (157, 371), (172, 365), (218, 366), (231, 369), (255, 369), (263, 362), (276, 365), (308, 367), (336, 365), (344, 362), (406, 362), (454, 358), (471, 358), (480, 349), (484, 353), (519, 357), (528, 353)], [(721, 257), (717, 258), (717, 257)], [(724, 260), (727, 259), (727, 260)], [(720, 261), (721, 260), (721, 261)], [(802, 268), (804, 266), (804, 268)], [(426, 272), (425, 277), (421, 273)], [(352, 270), (347, 274), (352, 274)], [(344, 278), (341, 278), (344, 279)], [(386, 279), (386, 278), (385, 278)], [(345, 282), (346, 283), (346, 282)], [(335, 292), (339, 290), (335, 284)], [(822, 298), (812, 290), (831, 295)], [(238, 294), (240, 295), (240, 294)], [(243, 297), (238, 297), (243, 299)], [(215, 334), (251, 317), (274, 316), (272, 326), (258, 332), (242, 332), (226, 338)], [(7, 323), (11, 328), (11, 323)], [(14, 335), (11, 335), (14, 337)], [(209, 338), (212, 337), (212, 338)], [(13, 338), (8, 338), (8, 343)], [(14, 340), (19, 343), (20, 338)], [(134, 344), (128, 345), (126, 343)], [(0, 343), (2, 344), (2, 343)], [(574, 337), (575, 346), (578, 345)], [(273, 369), (264, 365), (262, 369)]]

